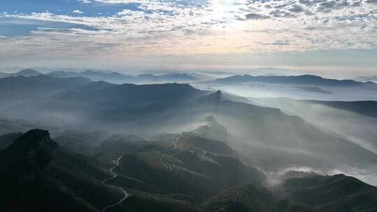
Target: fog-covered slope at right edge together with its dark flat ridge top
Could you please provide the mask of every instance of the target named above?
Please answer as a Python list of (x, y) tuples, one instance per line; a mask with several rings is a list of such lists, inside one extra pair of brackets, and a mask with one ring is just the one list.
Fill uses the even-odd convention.
[(376, 101), (339, 102), (289, 98), (252, 98), (251, 100), (265, 107), (278, 107), (288, 114), (300, 116), (327, 133), (343, 137), (377, 153)]

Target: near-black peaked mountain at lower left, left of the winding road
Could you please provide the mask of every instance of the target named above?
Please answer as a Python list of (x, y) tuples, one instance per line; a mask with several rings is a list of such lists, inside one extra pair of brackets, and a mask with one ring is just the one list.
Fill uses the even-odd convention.
[(1, 211), (99, 211), (121, 193), (94, 160), (59, 149), (45, 130), (30, 130), (0, 151)]

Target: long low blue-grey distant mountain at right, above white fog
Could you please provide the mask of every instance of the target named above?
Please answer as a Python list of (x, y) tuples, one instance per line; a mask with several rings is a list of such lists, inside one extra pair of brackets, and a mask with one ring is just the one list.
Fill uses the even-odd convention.
[[(267, 84), (297, 84), (297, 85), (314, 85), (314, 86), (363, 86), (363, 82), (346, 79), (325, 79), (316, 75), (299, 75), (299, 76), (251, 76), (251, 75), (234, 75), (216, 79), (215, 83), (219, 84), (237, 84), (244, 82), (261, 82)], [(369, 84), (370, 85), (370, 84)], [(374, 84), (377, 87), (377, 84)]]

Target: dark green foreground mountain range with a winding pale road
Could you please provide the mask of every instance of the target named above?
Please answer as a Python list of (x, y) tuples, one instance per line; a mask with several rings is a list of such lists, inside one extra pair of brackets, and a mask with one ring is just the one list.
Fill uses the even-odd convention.
[[(64, 132), (71, 133), (80, 134)], [(0, 210), (377, 209), (377, 188), (350, 176), (290, 173), (271, 186), (265, 174), (245, 166), (224, 142), (191, 132), (158, 137), (152, 142), (135, 135), (107, 135), (97, 144), (88, 143), (96, 149), (82, 156), (62, 148), (61, 140), (51, 139), (46, 130), (17, 135), (0, 151)], [(110, 178), (105, 170), (113, 167), (117, 158), (119, 165), (111, 169), (116, 174)]]

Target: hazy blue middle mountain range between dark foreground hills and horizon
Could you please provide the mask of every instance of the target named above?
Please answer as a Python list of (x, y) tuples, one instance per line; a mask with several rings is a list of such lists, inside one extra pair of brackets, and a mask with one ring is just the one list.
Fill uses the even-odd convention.
[[(22, 79), (22, 83), (12, 82), (17, 79)], [(60, 127), (69, 124), (77, 129), (126, 130), (153, 135), (179, 131), (203, 117), (216, 116), (230, 132), (232, 147), (248, 149), (253, 153), (249, 162), (258, 167), (281, 169), (291, 164), (327, 168), (339, 164), (368, 167), (377, 160), (375, 153), (346, 138), (331, 135), (300, 117), (289, 116), (279, 109), (260, 107), (246, 98), (221, 91), (211, 93), (195, 89), (189, 84), (119, 85), (91, 82), (82, 77), (39, 75), (0, 79), (0, 87), (7, 95), (13, 92), (13, 100), (24, 100), (24, 96), (15, 95), (17, 92), (27, 93), (28, 98), (38, 97), (5, 107), (8, 117), (30, 121), (40, 121), (43, 117), (43, 120)], [(2, 98), (6, 100), (7, 96)], [(365, 105), (373, 110), (373, 103)], [(72, 118), (61, 118), (68, 116)], [(295, 152), (286, 156), (287, 149), (295, 149)], [(348, 152), (355, 153), (357, 158), (350, 160)], [(270, 164), (265, 160), (265, 154), (272, 153), (276, 162)], [(323, 160), (328, 161), (324, 164)]]

